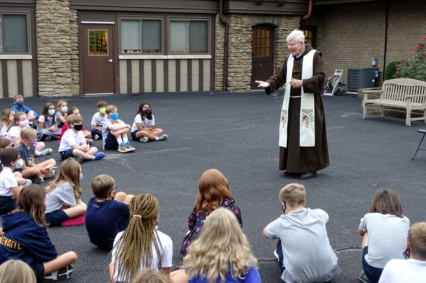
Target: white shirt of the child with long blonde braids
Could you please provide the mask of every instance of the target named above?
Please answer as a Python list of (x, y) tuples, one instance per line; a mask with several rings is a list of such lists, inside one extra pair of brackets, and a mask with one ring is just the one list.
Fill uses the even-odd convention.
[[(111, 256), (111, 261), (114, 262), (114, 276), (112, 277), (112, 281), (115, 282), (129, 282), (128, 280), (124, 279), (124, 278), (117, 278), (117, 268), (118, 268), (118, 264), (116, 263), (116, 243), (118, 242), (119, 238), (121, 237), (121, 235), (123, 235), (123, 232), (120, 232), (116, 235), (116, 238), (114, 240), (114, 248), (112, 249), (112, 256)], [(158, 233), (158, 238), (160, 240), (161, 246), (160, 246), (160, 253), (161, 253), (161, 267), (172, 267), (172, 257), (173, 257), (173, 242), (172, 239), (168, 236), (165, 235), (165, 233), (157, 231)], [(155, 246), (154, 243), (151, 245), (151, 251), (153, 253), (153, 263), (150, 266), (150, 268), (152, 268), (153, 270), (159, 271), (158, 270), (158, 255), (157, 252), (155, 250)], [(139, 274), (141, 274), (143, 272), (143, 266), (141, 264), (141, 268), (139, 270)]]

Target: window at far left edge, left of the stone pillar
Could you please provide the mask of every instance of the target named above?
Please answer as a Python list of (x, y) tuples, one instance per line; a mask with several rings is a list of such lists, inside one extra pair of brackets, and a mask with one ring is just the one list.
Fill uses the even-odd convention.
[(26, 14), (0, 13), (0, 53), (28, 53)]

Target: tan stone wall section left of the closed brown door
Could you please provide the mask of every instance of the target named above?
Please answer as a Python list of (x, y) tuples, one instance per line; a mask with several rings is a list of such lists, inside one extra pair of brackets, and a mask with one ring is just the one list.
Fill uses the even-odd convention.
[(69, 0), (37, 0), (38, 95), (80, 94), (77, 12)]

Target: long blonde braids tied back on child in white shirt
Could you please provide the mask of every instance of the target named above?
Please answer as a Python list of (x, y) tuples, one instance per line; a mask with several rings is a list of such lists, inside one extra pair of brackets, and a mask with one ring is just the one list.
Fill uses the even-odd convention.
[[(139, 194), (129, 203), (129, 226), (116, 243), (116, 270), (118, 278), (133, 280), (142, 267), (161, 266), (161, 243), (155, 229), (158, 216), (158, 201), (151, 194)], [(235, 217), (235, 216), (234, 216)], [(153, 262), (152, 244), (158, 255), (158, 262)]]

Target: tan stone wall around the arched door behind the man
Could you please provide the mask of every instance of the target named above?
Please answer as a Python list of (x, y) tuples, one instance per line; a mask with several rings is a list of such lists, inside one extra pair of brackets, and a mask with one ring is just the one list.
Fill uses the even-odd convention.
[[(283, 63), (288, 54), (288, 33), (300, 25), (300, 17), (256, 16), (229, 14), (224, 16), (229, 23), (228, 78), (229, 91), (249, 91), (251, 82), (251, 33), (253, 26), (268, 24), (275, 27), (274, 70)], [(224, 24), (216, 21), (216, 74), (215, 89), (223, 90), (224, 70)]]

